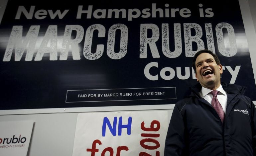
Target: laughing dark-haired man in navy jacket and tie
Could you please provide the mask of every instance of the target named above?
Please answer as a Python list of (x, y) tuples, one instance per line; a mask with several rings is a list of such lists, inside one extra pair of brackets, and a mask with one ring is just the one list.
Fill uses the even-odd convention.
[(164, 155), (256, 155), (255, 106), (245, 87), (220, 82), (222, 66), (210, 50), (198, 51), (192, 66), (199, 83), (175, 105)]

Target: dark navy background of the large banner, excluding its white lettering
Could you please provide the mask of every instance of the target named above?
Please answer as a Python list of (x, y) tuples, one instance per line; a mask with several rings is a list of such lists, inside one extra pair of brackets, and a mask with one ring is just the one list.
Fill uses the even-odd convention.
[[(93, 5), (93, 11), (96, 9), (134, 9), (143, 10), (152, 9), (152, 4), (156, 3), (156, 8), (188, 8), (191, 16), (184, 18), (176, 13), (176, 17), (157, 17), (153, 18), (133, 18), (128, 21), (126, 18), (104, 18), (91, 19), (86, 18), (86, 14), (81, 19), (76, 19), (77, 8), (83, 5), (83, 10), (88, 9), (88, 5)], [(166, 7), (165, 4), (169, 4)], [(202, 4), (202, 7), (198, 5)], [(48, 15), (44, 19), (27, 19), (23, 14), (20, 19), (15, 19), (19, 6), (24, 6), (29, 11), (31, 6), (35, 6), (35, 12), (44, 10), (69, 11), (63, 19), (51, 19)], [(231, 7), (232, 6), (232, 7)], [(212, 8), (213, 17), (200, 17), (199, 9)], [(142, 14), (141, 14), (142, 15)], [(171, 15), (170, 15), (171, 16)], [(237, 53), (232, 57), (223, 56), (218, 50), (215, 27), (219, 23), (229, 23), (232, 25), (237, 42)], [(174, 51), (174, 31), (173, 24), (181, 24), (182, 53), (177, 58), (168, 58), (162, 52), (161, 25), (169, 24), (170, 50)], [(0, 25), (0, 82), (1, 84), (1, 105), (0, 110), (10, 109), (39, 109), (39, 108), (67, 108), (67, 107), (101, 107), (101, 106), (133, 106), (133, 105), (163, 105), (175, 104), (189, 93), (189, 87), (196, 84), (196, 79), (192, 79), (192, 57), (186, 57), (184, 23), (196, 23), (202, 28), (202, 40), (204, 48), (207, 48), (205, 23), (211, 23), (216, 54), (221, 60), (223, 66), (230, 66), (233, 70), (236, 66), (241, 66), (235, 80), (236, 84), (247, 86), (246, 95), (256, 100), (255, 81), (253, 78), (252, 65), (245, 37), (243, 21), (238, 1), (70, 1), (67, 3), (51, 1), (13, 1), (9, 0), (1, 25)], [(97, 37), (97, 31), (94, 31), (91, 51), (96, 51), (98, 44), (104, 45), (104, 51), (100, 58), (89, 60), (83, 56), (85, 32), (87, 28), (94, 24), (104, 26), (105, 37)], [(121, 59), (112, 59), (107, 55), (108, 30), (114, 24), (123, 24), (128, 28), (127, 53)], [(159, 52), (159, 58), (153, 58), (149, 45), (147, 45), (147, 58), (140, 58), (140, 27), (141, 24), (155, 24), (160, 31), (160, 37), (156, 41)], [(84, 29), (84, 36), (78, 44), (80, 60), (73, 60), (71, 52), (67, 60), (60, 60), (61, 43), (58, 42), (58, 60), (50, 60), (49, 55), (45, 54), (41, 61), (35, 61), (37, 51), (35, 50), (33, 60), (25, 61), (26, 50), (20, 61), (15, 61), (15, 50), (10, 61), (3, 61), (6, 47), (12, 32), (13, 26), (23, 26), (23, 37), (25, 37), (31, 26), (39, 25), (40, 31), (38, 39), (43, 39), (49, 25), (58, 26), (58, 39), (62, 39), (66, 25), (80, 25)], [(192, 36), (195, 34), (192, 30)], [(227, 32), (223, 30), (227, 36)], [(71, 39), (76, 37), (76, 32), (72, 31)], [(115, 52), (118, 52), (120, 45), (121, 32), (116, 31)], [(152, 36), (152, 31), (148, 31), (148, 38)], [(37, 40), (37, 44), (40, 41)], [(193, 50), (197, 49), (197, 44), (193, 42)], [(39, 45), (38, 45), (39, 46)], [(159, 74), (159, 79), (149, 80), (144, 74), (144, 68), (151, 62), (158, 62), (158, 68), (152, 67), (151, 75)], [(171, 80), (164, 80), (160, 76), (160, 70), (164, 67), (171, 67), (176, 75)], [(190, 67), (190, 77), (181, 80), (177, 77), (176, 67), (181, 67), (182, 75), (185, 75), (185, 67)], [(168, 72), (166, 73), (168, 75)], [(229, 83), (232, 78), (227, 69), (224, 70), (222, 81)], [(140, 88), (159, 88), (176, 87), (176, 98), (164, 98), (159, 100), (148, 96), (144, 100), (131, 101), (98, 101), (98, 102), (74, 102), (66, 103), (67, 90), (99, 90), (99, 89), (136, 89), (137, 92), (143, 92)], [(155, 92), (154, 89), (151, 92)], [(120, 92), (119, 92), (120, 94)], [(120, 97), (119, 97), (120, 98)], [(160, 100), (161, 99), (161, 100)]]

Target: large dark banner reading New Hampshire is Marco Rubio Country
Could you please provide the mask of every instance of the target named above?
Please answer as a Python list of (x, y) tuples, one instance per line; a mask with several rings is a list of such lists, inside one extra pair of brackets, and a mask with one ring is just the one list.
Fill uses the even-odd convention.
[(197, 83), (201, 49), (256, 100), (238, 0), (8, 0), (0, 110), (175, 104)]

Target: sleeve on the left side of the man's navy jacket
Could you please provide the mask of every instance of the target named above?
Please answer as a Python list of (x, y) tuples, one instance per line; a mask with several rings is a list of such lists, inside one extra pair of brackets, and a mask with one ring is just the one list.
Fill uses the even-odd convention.
[(184, 118), (175, 105), (165, 140), (165, 156), (187, 155), (185, 125)]

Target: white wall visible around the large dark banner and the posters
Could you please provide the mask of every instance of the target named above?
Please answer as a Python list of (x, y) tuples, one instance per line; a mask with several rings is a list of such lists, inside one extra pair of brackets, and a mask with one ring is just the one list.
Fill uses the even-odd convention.
[[(249, 5), (250, 4), (250, 5)], [(256, 2), (255, 0), (240, 0), (241, 10), (244, 19), (246, 35), (250, 55), (256, 73)], [(250, 6), (250, 7), (249, 7)], [(252, 19), (253, 18), (253, 19)], [(256, 74), (254, 74), (256, 75)], [(174, 105), (155, 105), (155, 106), (125, 106), (125, 107), (105, 107), (102, 111), (133, 111), (133, 110), (166, 110), (171, 118)], [(97, 108), (98, 110), (99, 108)], [(34, 131), (29, 151), (30, 156), (71, 156), (74, 142), (76, 117), (74, 112), (94, 112), (96, 108), (70, 108), (70, 109), (45, 109), (23, 110), (23, 111), (1, 111), (0, 121), (35, 121)], [(16, 114), (16, 115), (8, 115)]]

